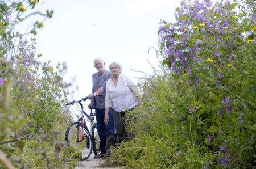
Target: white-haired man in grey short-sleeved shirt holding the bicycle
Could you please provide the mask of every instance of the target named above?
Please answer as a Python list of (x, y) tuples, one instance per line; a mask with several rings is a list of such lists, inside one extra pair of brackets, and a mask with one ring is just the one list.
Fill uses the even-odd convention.
[(88, 97), (91, 99), (89, 105), (90, 109), (95, 109), (98, 134), (100, 136), (100, 151), (99, 155), (94, 156), (94, 158), (102, 158), (106, 153), (106, 135), (107, 132), (115, 134), (114, 128), (114, 118), (113, 111), (112, 117), (110, 117), (110, 124), (105, 125), (105, 87), (106, 82), (111, 77), (111, 74), (108, 70), (105, 69), (105, 62), (101, 58), (94, 59), (94, 67), (98, 70), (97, 73), (94, 73), (92, 76), (93, 87), (92, 94), (89, 94)]

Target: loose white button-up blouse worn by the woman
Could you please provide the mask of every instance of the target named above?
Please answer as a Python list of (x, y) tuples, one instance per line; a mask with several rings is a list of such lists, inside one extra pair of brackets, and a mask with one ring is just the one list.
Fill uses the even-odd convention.
[(105, 106), (112, 107), (117, 112), (131, 109), (139, 104), (136, 96), (139, 96), (137, 84), (122, 73), (119, 74), (117, 86), (111, 81), (106, 82)]

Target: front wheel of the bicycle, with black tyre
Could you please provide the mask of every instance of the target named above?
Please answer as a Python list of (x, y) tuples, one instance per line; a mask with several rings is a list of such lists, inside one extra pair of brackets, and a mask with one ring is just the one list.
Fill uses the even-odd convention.
[(69, 126), (65, 133), (65, 140), (68, 146), (73, 147), (81, 153), (81, 159), (88, 159), (93, 150), (92, 137), (88, 129), (84, 128), (84, 138), (82, 139), (82, 127), (78, 122)]

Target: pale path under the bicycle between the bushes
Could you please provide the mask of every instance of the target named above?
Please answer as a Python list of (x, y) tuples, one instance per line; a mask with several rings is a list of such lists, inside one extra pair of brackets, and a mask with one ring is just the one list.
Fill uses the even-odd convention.
[[(101, 159), (94, 159), (93, 155), (91, 155), (87, 160), (79, 162), (77, 164), (77, 167), (75, 169), (81, 169), (81, 168), (103, 168), (99, 167), (99, 164), (101, 162)], [(106, 167), (104, 167), (106, 168)], [(115, 168), (115, 169), (121, 169), (120, 167), (108, 167), (110, 168)]]

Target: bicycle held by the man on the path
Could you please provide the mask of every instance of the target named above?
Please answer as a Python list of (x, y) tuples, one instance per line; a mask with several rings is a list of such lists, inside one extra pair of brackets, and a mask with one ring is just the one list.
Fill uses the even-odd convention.
[[(82, 98), (81, 100), (73, 100), (72, 102), (67, 103), (66, 105), (73, 105), (75, 103), (79, 103), (80, 109), (80, 117), (78, 120), (74, 122), (71, 126), (69, 126), (65, 132), (65, 140), (68, 142), (68, 146), (75, 147), (82, 151), (82, 159), (88, 159), (92, 154), (92, 151), (95, 155), (99, 154), (100, 147), (100, 138), (97, 132), (97, 125), (94, 122), (95, 113), (91, 112), (88, 115), (84, 111), (84, 106), (81, 102), (85, 102), (88, 100), (88, 97)], [(87, 120), (90, 121), (90, 132), (88, 126), (85, 122), (84, 115)]]

